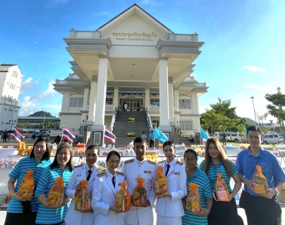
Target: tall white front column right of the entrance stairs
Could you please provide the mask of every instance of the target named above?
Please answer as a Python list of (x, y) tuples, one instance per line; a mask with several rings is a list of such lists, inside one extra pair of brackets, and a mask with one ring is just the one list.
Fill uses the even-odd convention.
[(168, 58), (159, 58), (159, 129), (171, 131), (169, 126)]

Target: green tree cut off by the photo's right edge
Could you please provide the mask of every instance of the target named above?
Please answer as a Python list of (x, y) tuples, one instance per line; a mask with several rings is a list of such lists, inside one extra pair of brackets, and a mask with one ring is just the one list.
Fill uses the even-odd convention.
[[(281, 133), (284, 136), (284, 120), (285, 120), (285, 94), (281, 93), (281, 88), (277, 88), (277, 94), (266, 94), (265, 99), (272, 104), (266, 105), (268, 113), (277, 118), (277, 124), (281, 129)], [(284, 141), (285, 143), (285, 141)]]

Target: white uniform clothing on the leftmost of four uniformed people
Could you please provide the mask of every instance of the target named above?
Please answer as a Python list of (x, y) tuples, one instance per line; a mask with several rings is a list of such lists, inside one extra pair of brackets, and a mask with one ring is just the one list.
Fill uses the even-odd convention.
[[(69, 181), (69, 184), (66, 188), (66, 197), (71, 198), (71, 205), (68, 207), (68, 210), (66, 212), (66, 217), (64, 221), (66, 221), (66, 224), (70, 225), (93, 225), (95, 220), (96, 212), (79, 212), (77, 210), (74, 210), (74, 200), (75, 200), (75, 187), (79, 184), (80, 181), (85, 180), (87, 178), (87, 171), (89, 170), (89, 167), (87, 164), (79, 165), (73, 169), (73, 174), (71, 176), (71, 179)], [(92, 172), (90, 179), (88, 181), (88, 191), (92, 198), (92, 186), (95, 181), (95, 177), (97, 174), (104, 171), (104, 167), (99, 167), (97, 164), (95, 164), (95, 169)]]

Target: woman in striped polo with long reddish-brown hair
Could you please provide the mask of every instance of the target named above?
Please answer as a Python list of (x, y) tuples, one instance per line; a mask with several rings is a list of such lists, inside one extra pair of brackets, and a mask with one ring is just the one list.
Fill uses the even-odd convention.
[[(217, 173), (222, 174), (222, 179), (226, 182), (229, 190), (228, 201), (213, 201), (213, 205), (208, 215), (209, 225), (243, 225), (243, 219), (238, 215), (236, 200), (234, 196), (241, 188), (241, 179), (238, 176), (238, 169), (233, 162), (228, 160), (224, 149), (217, 139), (207, 139), (205, 146), (205, 160), (200, 165), (210, 179), (211, 188), (214, 192), (214, 184), (217, 181)], [(235, 181), (234, 189), (231, 191), (229, 184), (231, 177)]]

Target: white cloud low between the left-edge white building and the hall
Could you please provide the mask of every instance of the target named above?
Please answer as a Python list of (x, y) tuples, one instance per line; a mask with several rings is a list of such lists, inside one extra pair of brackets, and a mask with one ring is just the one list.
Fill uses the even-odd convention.
[[(61, 111), (61, 100), (62, 95), (53, 89), (54, 82), (49, 82), (47, 89), (44, 91), (37, 91), (35, 94), (30, 94), (30, 90), (27, 86), (35, 87), (41, 85), (38, 81), (33, 82), (30, 79), (24, 87), (24, 92), (22, 93), (23, 100), (20, 101), (20, 112), (19, 115), (27, 116), (40, 110), (45, 110), (51, 115), (58, 116)], [(22, 90), (22, 89), (21, 89)]]

